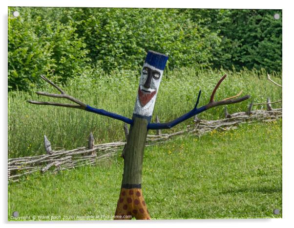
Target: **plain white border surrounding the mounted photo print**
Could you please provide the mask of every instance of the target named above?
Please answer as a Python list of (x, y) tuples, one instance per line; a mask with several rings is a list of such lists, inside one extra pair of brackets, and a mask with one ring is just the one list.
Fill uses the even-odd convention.
[[(291, 7), (290, 0), (205, 0), (195, 1), (191, 0), (107, 0), (107, 1), (93, 1), (93, 0), (2, 0), (1, 4), (1, 50), (0, 64), (1, 71), (1, 98), (4, 111), (1, 112), (1, 141), (2, 146), (2, 187), (1, 196), (4, 203), (1, 204), (1, 223), (4, 227), (17, 227), (19, 225), (26, 227), (51, 227), (51, 226), (71, 226), (72, 228), (81, 227), (86, 224), (87, 227), (97, 226), (111, 226), (118, 225), (120, 227), (147, 227), (148, 225), (161, 227), (168, 225), (169, 227), (179, 227), (184, 223), (185, 227), (218, 227), (218, 228), (248, 228), (250, 227), (290, 227), (293, 222), (294, 212), (294, 181), (293, 181), (293, 167), (294, 152), (291, 144), (293, 140), (293, 118), (291, 118), (291, 106), (293, 97), (293, 63), (292, 56), (294, 53), (293, 45), (293, 25), (294, 12)], [(223, 220), (160, 220), (160, 221), (74, 221), (74, 222), (7, 222), (7, 7), (8, 6), (56, 6), (56, 7), (154, 7), (154, 8), (255, 8), (255, 9), (282, 9), (283, 10), (283, 219), (223, 219)]]

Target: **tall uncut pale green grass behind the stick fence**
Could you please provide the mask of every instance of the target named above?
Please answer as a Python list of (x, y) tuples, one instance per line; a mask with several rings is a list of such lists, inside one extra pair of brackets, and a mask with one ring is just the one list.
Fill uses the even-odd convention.
[[(199, 107), (208, 103), (210, 94), (223, 74), (228, 77), (215, 95), (216, 100), (230, 97), (243, 91), (250, 94), (250, 100), (228, 106), (229, 113), (245, 111), (253, 100), (265, 102), (267, 96), (272, 101), (282, 97), (281, 88), (267, 80), (265, 71), (243, 70), (240, 72), (225, 70), (195, 70), (182, 68), (164, 73), (158, 92), (152, 121), (158, 115), (161, 122), (171, 121), (189, 112), (195, 105), (198, 91), (202, 90)], [(271, 75), (274, 81), (282, 84), (281, 74)], [(84, 103), (109, 112), (131, 118), (138, 91), (140, 72), (114, 71), (105, 74), (98, 69), (83, 72), (61, 86), (68, 94)], [(74, 149), (85, 146), (90, 132), (96, 143), (124, 140), (123, 123), (106, 116), (82, 110), (32, 105), (26, 100), (68, 102), (62, 99), (50, 99), (37, 96), (35, 91), (58, 93), (44, 84), (29, 92), (14, 91), (8, 94), (8, 157), (40, 155), (44, 153), (43, 136), (51, 142), (52, 149)], [(281, 103), (273, 104), (273, 108)], [(254, 106), (260, 109), (261, 106)], [(265, 106), (263, 107), (265, 108)], [(216, 107), (199, 115), (203, 119), (218, 119), (223, 116), (224, 107)], [(166, 132), (183, 129), (192, 120), (185, 121)], [(150, 134), (152, 132), (150, 131)]]

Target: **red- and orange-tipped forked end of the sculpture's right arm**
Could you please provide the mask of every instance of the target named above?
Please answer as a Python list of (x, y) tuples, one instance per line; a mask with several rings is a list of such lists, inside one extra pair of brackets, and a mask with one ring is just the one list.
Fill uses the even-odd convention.
[(237, 99), (233, 99), (233, 98), (236, 98), (238, 96), (241, 95), (242, 91), (240, 91), (238, 94), (234, 95), (234, 96), (231, 96), (231, 97), (228, 97), (228, 98), (225, 98), (223, 100), (220, 100), (220, 101), (214, 101), (214, 95), (218, 89), (218, 87), (220, 86), (220, 84), (222, 83), (222, 81), (227, 77), (227, 74), (225, 74), (219, 81), (218, 83), (216, 84), (216, 86), (214, 87), (212, 93), (211, 93), (211, 96), (210, 96), (210, 102), (205, 106), (206, 109), (211, 109), (213, 107), (216, 107), (216, 106), (220, 106), (220, 105), (230, 105), (230, 104), (234, 104), (234, 103), (238, 103), (238, 102), (241, 102), (241, 101), (244, 101), (244, 100), (247, 100), (248, 98), (250, 98), (250, 95), (245, 95), (245, 96), (242, 96), (240, 98), (237, 98)]

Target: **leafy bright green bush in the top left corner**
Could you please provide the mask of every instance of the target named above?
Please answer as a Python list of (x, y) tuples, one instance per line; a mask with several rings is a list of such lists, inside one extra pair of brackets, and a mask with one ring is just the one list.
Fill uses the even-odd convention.
[[(12, 11), (20, 12), (13, 17)], [(9, 8), (8, 88), (28, 90), (40, 74), (59, 78), (77, 75), (86, 66), (88, 52), (70, 21), (60, 18), (58, 8)]]

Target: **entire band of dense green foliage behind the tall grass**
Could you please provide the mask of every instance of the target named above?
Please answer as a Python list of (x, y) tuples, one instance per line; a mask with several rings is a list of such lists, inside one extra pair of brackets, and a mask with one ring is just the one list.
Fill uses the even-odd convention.
[(280, 10), (11, 7), (9, 89), (28, 90), (40, 74), (65, 82), (85, 68), (139, 69), (149, 49), (168, 54), (167, 69), (281, 71), (282, 20), (274, 13), (282, 16)]

